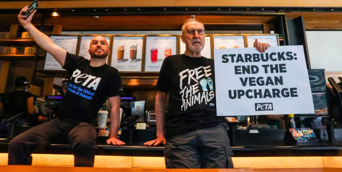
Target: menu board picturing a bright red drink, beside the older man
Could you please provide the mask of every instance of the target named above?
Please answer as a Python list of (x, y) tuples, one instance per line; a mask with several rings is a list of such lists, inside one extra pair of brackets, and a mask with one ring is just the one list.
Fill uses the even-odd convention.
[(146, 36), (146, 72), (159, 72), (163, 60), (177, 54), (177, 36)]

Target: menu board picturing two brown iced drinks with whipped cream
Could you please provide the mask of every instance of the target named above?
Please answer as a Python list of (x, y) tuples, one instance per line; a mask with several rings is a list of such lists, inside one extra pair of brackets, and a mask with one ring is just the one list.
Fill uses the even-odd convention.
[(120, 72), (141, 72), (143, 36), (114, 36), (110, 66)]

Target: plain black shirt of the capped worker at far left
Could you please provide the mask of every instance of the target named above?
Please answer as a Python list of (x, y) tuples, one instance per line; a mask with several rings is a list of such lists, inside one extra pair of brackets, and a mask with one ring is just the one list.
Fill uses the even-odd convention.
[(3, 119), (8, 119), (19, 113), (26, 113), (21, 115), (21, 119), (27, 120), (27, 99), (33, 97), (30, 92), (24, 90), (15, 90), (1, 97), (1, 102), (4, 107)]

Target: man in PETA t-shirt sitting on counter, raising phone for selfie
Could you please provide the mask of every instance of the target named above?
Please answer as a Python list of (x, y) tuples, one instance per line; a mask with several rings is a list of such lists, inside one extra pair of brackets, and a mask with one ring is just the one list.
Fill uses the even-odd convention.
[(9, 145), (9, 165), (31, 165), (33, 151), (49, 145), (55, 138), (67, 138), (73, 148), (74, 166), (93, 167), (95, 160), (96, 129), (91, 124), (98, 109), (109, 100), (110, 133), (107, 144), (124, 145), (118, 140), (120, 96), (122, 95), (119, 71), (106, 64), (110, 52), (108, 42), (102, 36), (92, 39), (89, 47), (90, 61), (66, 52), (47, 35), (40, 32), (31, 19), (36, 10), (25, 20), (28, 6), (19, 15), (19, 22), (36, 43), (51, 53), (69, 73), (67, 94), (64, 96), (56, 118), (40, 124), (16, 136)]

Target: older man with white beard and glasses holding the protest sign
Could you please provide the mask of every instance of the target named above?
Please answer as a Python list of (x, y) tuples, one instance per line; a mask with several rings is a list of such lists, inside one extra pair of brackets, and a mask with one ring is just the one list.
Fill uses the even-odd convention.
[[(214, 61), (201, 56), (204, 25), (187, 19), (181, 39), (186, 45), (184, 54), (164, 60), (156, 86), (157, 138), (144, 145), (166, 144), (166, 168), (234, 168), (227, 124), (216, 116)], [(269, 44), (256, 40), (254, 47), (264, 52)]]

